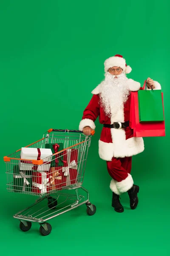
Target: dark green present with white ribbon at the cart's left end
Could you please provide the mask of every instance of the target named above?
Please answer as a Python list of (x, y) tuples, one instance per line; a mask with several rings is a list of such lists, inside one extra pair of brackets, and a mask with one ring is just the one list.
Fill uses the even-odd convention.
[(13, 188), (15, 192), (31, 192), (32, 171), (20, 171), (19, 165), (14, 165)]

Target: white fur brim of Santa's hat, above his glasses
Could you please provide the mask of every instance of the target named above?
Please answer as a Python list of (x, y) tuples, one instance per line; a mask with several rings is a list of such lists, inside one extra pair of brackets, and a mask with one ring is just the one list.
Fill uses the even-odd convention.
[(105, 60), (104, 62), (105, 72), (108, 72), (111, 67), (121, 67), (122, 70), (126, 69), (126, 61), (124, 58), (113, 56)]

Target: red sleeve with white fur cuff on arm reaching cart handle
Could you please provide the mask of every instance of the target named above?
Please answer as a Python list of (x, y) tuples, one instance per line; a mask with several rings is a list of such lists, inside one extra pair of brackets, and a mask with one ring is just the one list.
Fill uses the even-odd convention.
[(94, 122), (99, 116), (99, 95), (94, 94), (88, 103), (88, 106), (83, 111), (82, 121), (79, 123), (79, 130), (82, 131), (85, 126), (90, 126), (95, 129)]

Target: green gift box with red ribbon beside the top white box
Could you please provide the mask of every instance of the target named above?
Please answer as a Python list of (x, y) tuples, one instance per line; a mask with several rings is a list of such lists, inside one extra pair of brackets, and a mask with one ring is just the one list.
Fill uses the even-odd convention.
[[(45, 148), (50, 148), (52, 154), (55, 154), (58, 151), (63, 150), (63, 143), (47, 143), (45, 144)], [(59, 153), (52, 157), (51, 167), (54, 166), (64, 166), (62, 153)]]

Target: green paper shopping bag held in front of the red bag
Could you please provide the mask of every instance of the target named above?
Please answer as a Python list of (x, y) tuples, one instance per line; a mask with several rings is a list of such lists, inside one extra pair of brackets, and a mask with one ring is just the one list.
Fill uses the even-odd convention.
[[(145, 90), (144, 90), (145, 87)], [(147, 81), (144, 81), (143, 90), (138, 91), (139, 122), (164, 121), (161, 90), (147, 90)]]

